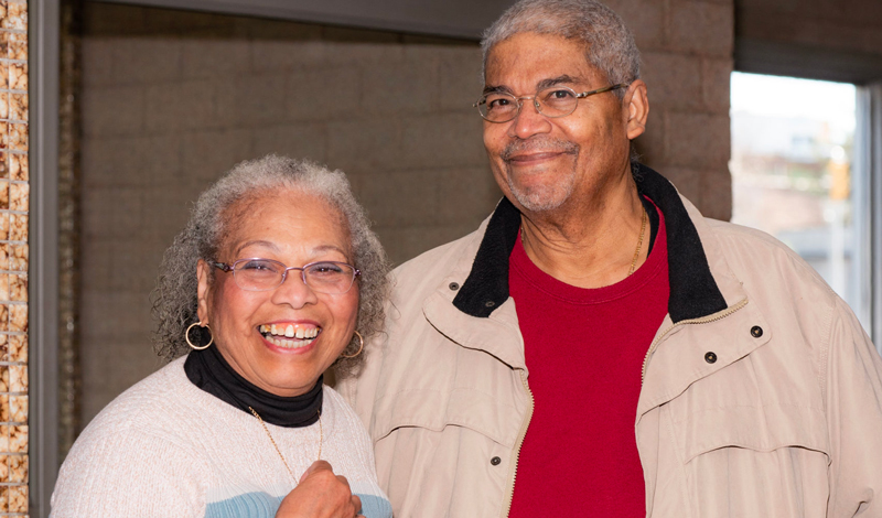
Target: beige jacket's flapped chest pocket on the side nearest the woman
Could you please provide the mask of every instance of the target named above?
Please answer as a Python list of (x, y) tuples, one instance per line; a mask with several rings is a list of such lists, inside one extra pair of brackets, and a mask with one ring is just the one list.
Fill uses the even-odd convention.
[(370, 434), (396, 516), (498, 514), (526, 402), (506, 386), (517, 375), (499, 376), (497, 385), (487, 373), (422, 371), (422, 386), (377, 400)]

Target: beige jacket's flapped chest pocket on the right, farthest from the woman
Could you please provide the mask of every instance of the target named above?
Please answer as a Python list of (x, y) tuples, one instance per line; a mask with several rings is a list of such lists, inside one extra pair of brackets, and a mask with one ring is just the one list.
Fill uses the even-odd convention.
[(659, 409), (659, 447), (674, 450), (679, 466), (668, 473), (695, 516), (825, 516), (830, 457), (820, 390), (810, 377), (763, 371), (743, 358)]

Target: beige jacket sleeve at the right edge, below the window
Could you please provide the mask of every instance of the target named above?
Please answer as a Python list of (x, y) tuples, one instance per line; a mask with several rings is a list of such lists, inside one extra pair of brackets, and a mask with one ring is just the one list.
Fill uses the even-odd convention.
[(827, 516), (882, 518), (882, 358), (839, 298), (825, 364), (830, 438)]

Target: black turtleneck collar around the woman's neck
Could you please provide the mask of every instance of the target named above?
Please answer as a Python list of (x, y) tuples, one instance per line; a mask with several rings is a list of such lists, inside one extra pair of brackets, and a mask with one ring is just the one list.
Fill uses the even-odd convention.
[(251, 407), (263, 421), (284, 428), (309, 427), (319, 420), (322, 410), (322, 376), (309, 392), (286, 398), (267, 392), (243, 378), (217, 350), (208, 347), (193, 350), (184, 361), (190, 381), (217, 399), (251, 413)]

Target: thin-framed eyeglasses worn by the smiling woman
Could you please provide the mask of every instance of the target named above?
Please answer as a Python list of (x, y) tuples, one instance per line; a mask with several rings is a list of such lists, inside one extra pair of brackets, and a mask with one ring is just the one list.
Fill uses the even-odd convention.
[(303, 283), (316, 293), (346, 293), (361, 270), (337, 261), (310, 262), (302, 267), (287, 267), (272, 259), (239, 259), (233, 265), (209, 262), (225, 272), (233, 272), (236, 285), (247, 291), (273, 290), (284, 282), (289, 270), (300, 270)]

